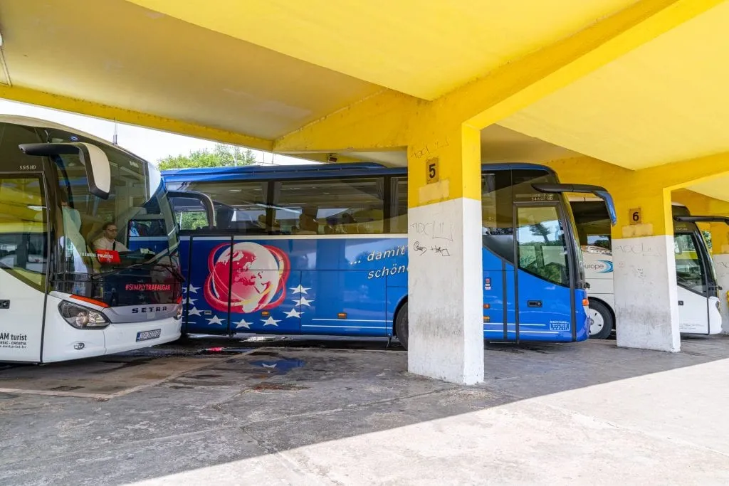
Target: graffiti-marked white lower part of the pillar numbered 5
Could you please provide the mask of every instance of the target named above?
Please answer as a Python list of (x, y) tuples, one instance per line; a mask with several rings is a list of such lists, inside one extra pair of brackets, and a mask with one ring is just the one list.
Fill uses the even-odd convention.
[(480, 383), (480, 202), (459, 198), (410, 208), (408, 227), (408, 371)]

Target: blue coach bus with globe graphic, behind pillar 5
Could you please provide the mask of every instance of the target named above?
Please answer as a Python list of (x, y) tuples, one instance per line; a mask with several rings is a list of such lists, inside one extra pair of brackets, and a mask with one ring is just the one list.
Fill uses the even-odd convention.
[[(183, 331), (397, 336), (407, 348), (408, 179), (371, 163), (193, 168), (163, 178), (187, 279)], [(549, 168), (483, 165), (489, 341), (588, 338), (582, 254)]]

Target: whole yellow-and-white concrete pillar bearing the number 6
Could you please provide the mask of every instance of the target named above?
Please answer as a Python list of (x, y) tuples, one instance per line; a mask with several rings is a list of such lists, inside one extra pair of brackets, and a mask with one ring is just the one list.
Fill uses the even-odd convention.
[(614, 196), (618, 216), (612, 229), (617, 345), (678, 352), (671, 193), (625, 184)]

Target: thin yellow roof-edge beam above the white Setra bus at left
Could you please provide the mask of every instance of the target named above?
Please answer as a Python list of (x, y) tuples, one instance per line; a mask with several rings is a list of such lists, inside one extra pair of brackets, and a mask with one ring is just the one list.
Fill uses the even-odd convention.
[(118, 108), (116, 106), (93, 103), (92, 101), (79, 100), (77, 98), (69, 98), (52, 93), (44, 93), (42, 91), (31, 90), (24, 87), (0, 85), (0, 98), (20, 101), (21, 103), (47, 106), (52, 109), (71, 111), (72, 113), (84, 114), (89, 117), (116, 120), (120, 123), (153, 128), (155, 130), (162, 130), (169, 133), (179, 133), (181, 135), (219, 141), (225, 144), (246, 146), (252, 149), (270, 151), (273, 147), (273, 141), (265, 140), (263, 138), (247, 136), (241, 133), (233, 133), (227, 130), (219, 130), (218, 128), (205, 127), (203, 125), (196, 125), (194, 123), (183, 122), (176, 119), (158, 117), (157, 115), (141, 113), (140, 111), (131, 111), (128, 109)]

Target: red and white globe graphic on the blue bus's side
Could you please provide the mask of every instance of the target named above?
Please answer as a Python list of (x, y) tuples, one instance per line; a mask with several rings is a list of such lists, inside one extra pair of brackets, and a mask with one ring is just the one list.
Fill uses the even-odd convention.
[(216, 310), (227, 312), (230, 299), (231, 312), (253, 313), (286, 298), (289, 258), (275, 246), (224, 243), (208, 255), (208, 270), (205, 298)]

